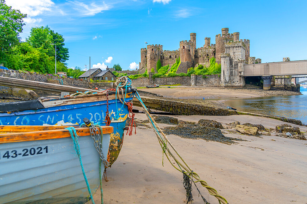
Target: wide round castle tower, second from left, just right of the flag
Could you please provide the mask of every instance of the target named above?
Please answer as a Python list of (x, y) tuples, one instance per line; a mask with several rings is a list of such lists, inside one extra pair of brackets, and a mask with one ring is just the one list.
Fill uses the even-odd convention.
[(161, 60), (162, 51), (162, 45), (147, 45), (147, 73), (151, 72), (151, 68), (157, 73), (157, 61)]

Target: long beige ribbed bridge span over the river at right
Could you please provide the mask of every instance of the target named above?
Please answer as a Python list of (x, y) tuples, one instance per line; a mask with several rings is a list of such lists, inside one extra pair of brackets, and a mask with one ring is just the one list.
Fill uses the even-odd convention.
[(307, 60), (243, 65), (243, 76), (307, 74)]

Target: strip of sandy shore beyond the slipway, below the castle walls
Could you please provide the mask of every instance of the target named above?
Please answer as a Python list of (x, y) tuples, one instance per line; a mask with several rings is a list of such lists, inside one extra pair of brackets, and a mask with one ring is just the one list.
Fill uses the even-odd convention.
[(162, 95), (166, 98), (190, 98), (190, 99), (230, 99), (230, 98), (251, 98), (261, 96), (278, 95), (301, 95), (299, 92), (284, 90), (265, 91), (259, 87), (244, 88), (223, 88), (223, 87), (159, 87), (139, 89), (154, 94)]

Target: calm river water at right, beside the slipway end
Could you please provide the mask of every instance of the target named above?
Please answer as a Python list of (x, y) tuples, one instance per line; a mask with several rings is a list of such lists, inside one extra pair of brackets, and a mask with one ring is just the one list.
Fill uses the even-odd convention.
[(225, 101), (240, 111), (294, 118), (307, 124), (307, 88), (301, 87), (303, 95), (257, 97)]

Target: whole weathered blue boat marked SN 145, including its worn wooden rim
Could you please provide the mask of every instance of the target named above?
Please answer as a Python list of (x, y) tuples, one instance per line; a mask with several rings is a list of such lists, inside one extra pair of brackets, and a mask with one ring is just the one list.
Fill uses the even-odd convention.
[(106, 125), (105, 117), (108, 106), (111, 118), (109, 164), (114, 163), (122, 146), (123, 129), (128, 117), (128, 107), (119, 98), (132, 102), (135, 90), (128, 87), (124, 97), (116, 91), (76, 95), (58, 98), (40, 98), (38, 100), (0, 103), (0, 125), (80, 125), (83, 118), (88, 118), (99, 125)]

